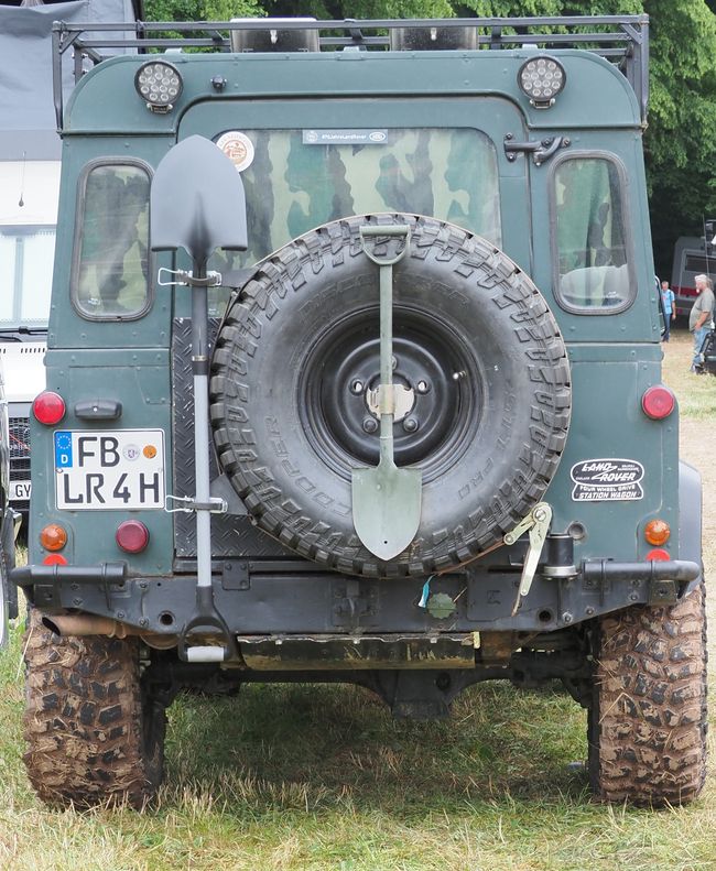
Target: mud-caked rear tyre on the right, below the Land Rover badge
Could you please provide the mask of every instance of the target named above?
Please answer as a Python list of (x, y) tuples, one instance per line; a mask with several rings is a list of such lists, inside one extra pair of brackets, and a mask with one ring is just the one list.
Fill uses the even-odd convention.
[(706, 776), (704, 587), (671, 607), (600, 621), (589, 709), (595, 795), (636, 805), (685, 804)]

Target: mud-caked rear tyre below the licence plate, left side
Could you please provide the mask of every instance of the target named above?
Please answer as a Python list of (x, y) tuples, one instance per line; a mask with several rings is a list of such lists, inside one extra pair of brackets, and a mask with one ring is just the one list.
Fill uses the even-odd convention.
[(59, 638), (28, 617), (24, 755), (52, 806), (141, 808), (163, 773), (164, 708), (142, 687), (137, 639)]

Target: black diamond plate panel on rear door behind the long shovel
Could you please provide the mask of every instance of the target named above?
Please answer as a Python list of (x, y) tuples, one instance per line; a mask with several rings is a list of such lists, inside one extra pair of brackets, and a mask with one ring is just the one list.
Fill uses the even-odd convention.
[[(218, 318), (209, 319), (209, 350), (219, 328)], [(194, 496), (194, 377), (192, 374), (192, 322), (175, 318), (172, 331), (174, 496)], [(207, 426), (209, 423), (207, 421)], [(210, 427), (209, 427), (210, 428)], [(209, 444), (214, 440), (209, 434)], [(218, 477), (216, 455), (209, 457), (211, 480)], [(174, 549), (178, 557), (196, 556), (196, 519), (194, 513), (174, 515)], [(292, 556), (265, 533), (257, 530), (247, 516), (211, 515), (211, 554), (223, 556)]]

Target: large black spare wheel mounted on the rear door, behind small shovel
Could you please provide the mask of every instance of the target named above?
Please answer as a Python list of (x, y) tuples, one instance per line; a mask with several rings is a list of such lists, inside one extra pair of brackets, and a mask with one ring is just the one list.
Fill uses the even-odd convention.
[[(393, 268), (394, 455), (423, 487), (414, 541), (383, 563), (356, 535), (351, 469), (379, 458), (379, 269), (359, 228), (393, 224), (411, 229)], [(495, 544), (554, 476), (571, 405), (564, 341), (528, 275), (485, 239), (403, 214), (333, 221), (259, 263), (219, 328), (210, 393), (220, 465), (258, 525), (372, 577), (424, 576)]]

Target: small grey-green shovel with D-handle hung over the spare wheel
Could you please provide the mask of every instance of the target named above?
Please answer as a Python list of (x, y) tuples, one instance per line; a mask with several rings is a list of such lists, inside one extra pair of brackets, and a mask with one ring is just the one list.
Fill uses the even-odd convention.
[[(394, 257), (381, 259), (366, 247), (368, 237), (403, 237), (404, 244)], [(392, 559), (417, 532), (423, 480), (420, 469), (399, 469), (393, 459), (393, 263), (408, 251), (410, 228), (361, 227), (360, 238), (367, 257), (380, 266), (380, 460), (376, 468), (352, 469), (352, 519), (366, 547), (379, 559)]]

